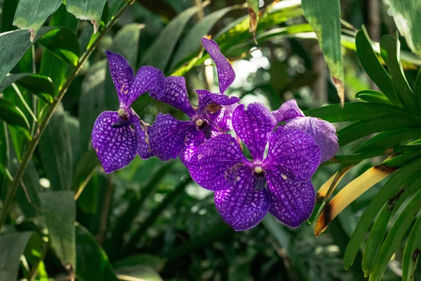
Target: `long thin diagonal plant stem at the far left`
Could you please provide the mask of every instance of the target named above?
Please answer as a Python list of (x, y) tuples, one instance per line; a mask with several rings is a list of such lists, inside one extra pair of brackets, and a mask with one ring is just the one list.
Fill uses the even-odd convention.
[(13, 199), (15, 198), (16, 191), (18, 190), (18, 187), (19, 187), (18, 184), (20, 183), (20, 179), (22, 178), (23, 173), (25, 173), (25, 169), (27, 168), (27, 165), (32, 158), (32, 154), (34, 153), (36, 145), (38, 145), (39, 139), (41, 138), (42, 133), (44, 133), (46, 126), (48, 125), (48, 122), (50, 122), (51, 117), (53, 117), (55, 110), (57, 109), (63, 96), (65, 96), (65, 93), (69, 89), (69, 86), (72, 84), (74, 77), (76, 77), (76, 75), (81, 70), (83, 64), (86, 62), (86, 60), (88, 60), (89, 56), (98, 46), (102, 37), (104, 37), (104, 35), (111, 29), (111, 27), (116, 23), (116, 21), (123, 14), (123, 12), (126, 11), (128, 6), (131, 6), (131, 4), (133, 4), (134, 2), (135, 0), (126, 1), (126, 4), (124, 4), (124, 6), (116, 13), (116, 15), (114, 15), (114, 17), (111, 20), (109, 20), (109, 22), (107, 23), (107, 25), (105, 25), (104, 29), (101, 30), (100, 34), (95, 39), (93, 44), (91, 44), (91, 46), (85, 51), (85, 53), (81, 55), (81, 58), (79, 58), (79, 62), (77, 63), (76, 67), (74, 67), (73, 72), (70, 74), (69, 78), (67, 78), (65, 85), (62, 87), (57, 97), (54, 98), (54, 102), (49, 108), (44, 121), (39, 126), (39, 130), (36, 132), (34, 138), (32, 138), (32, 141), (29, 142), (27, 149), (25, 150), (24, 157), (22, 158), (22, 162), (20, 163), (18, 173), (16, 174), (16, 176), (14, 177), (14, 180), (12, 181), (11, 185), (8, 188), (6, 200), (4, 200), (4, 206), (3, 206), (3, 209), (1, 210), (0, 229), (4, 224), (4, 221), (6, 221), (6, 217), (8, 215), (8, 212), (11, 209)]

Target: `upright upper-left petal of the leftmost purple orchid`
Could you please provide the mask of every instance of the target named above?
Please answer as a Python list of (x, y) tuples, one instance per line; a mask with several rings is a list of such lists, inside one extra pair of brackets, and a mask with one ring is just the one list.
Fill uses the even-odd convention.
[(130, 91), (133, 82), (133, 69), (122, 55), (110, 51), (105, 51), (105, 54), (107, 55), (112, 81), (119, 94), (119, 100), (122, 102)]

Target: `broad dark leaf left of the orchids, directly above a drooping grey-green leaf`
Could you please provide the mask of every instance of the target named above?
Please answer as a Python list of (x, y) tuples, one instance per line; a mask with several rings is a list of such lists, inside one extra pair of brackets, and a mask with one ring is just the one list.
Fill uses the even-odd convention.
[(38, 145), (41, 162), (53, 190), (71, 190), (73, 176), (72, 143), (65, 115), (56, 112)]

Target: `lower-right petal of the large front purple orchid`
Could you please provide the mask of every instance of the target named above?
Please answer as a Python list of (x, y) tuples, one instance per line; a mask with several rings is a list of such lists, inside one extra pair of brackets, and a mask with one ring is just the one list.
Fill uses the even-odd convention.
[(267, 172), (269, 212), (290, 228), (298, 228), (312, 214), (316, 192), (311, 181), (285, 181), (280, 172)]

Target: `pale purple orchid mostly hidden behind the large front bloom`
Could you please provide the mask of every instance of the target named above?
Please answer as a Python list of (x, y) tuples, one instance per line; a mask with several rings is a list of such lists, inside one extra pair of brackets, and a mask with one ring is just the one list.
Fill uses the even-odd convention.
[(286, 122), (285, 129), (300, 129), (312, 136), (321, 150), (321, 163), (328, 161), (338, 152), (335, 126), (319, 118), (305, 117), (296, 100), (287, 100), (272, 114), (276, 122)]

